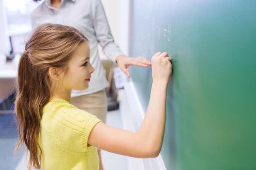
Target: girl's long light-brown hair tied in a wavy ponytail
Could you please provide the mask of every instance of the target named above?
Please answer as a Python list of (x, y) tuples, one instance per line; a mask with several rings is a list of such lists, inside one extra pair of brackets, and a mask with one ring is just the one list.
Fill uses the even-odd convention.
[(43, 107), (49, 102), (53, 84), (49, 67), (68, 70), (76, 46), (88, 39), (70, 26), (42, 24), (31, 34), (18, 65), (15, 100), (19, 139), (15, 148), (26, 144), (30, 158), (28, 168), (40, 169), (42, 150), (38, 144)]

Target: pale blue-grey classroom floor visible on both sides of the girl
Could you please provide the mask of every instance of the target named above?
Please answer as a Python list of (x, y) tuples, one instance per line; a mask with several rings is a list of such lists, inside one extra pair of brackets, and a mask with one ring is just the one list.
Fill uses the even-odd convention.
[[(20, 148), (13, 155), (16, 142), (18, 140), (17, 126), (14, 120), (13, 111), (9, 113), (0, 113), (0, 170), (27, 170), (26, 166), (26, 148)], [(108, 111), (106, 123), (122, 128), (119, 109)], [(117, 155), (102, 150), (102, 162), (104, 170), (127, 170), (127, 157)]]

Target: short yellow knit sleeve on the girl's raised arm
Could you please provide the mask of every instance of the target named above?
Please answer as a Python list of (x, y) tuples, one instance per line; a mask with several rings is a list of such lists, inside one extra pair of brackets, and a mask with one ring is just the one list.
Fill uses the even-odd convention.
[(90, 132), (98, 122), (101, 120), (86, 111), (61, 107), (57, 114), (49, 117), (45, 127), (56, 144), (75, 152), (85, 152)]

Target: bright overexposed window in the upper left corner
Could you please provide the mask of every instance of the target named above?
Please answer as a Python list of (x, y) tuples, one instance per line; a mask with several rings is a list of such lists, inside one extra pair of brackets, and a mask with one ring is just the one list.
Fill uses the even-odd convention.
[[(43, 1), (42, 1), (43, 2)], [(31, 12), (42, 3), (33, 0), (1, 0), (0, 54), (21, 54), (25, 49), (24, 36), (30, 32)], [(23, 50), (22, 50), (23, 49)], [(12, 58), (12, 57), (11, 57)]]

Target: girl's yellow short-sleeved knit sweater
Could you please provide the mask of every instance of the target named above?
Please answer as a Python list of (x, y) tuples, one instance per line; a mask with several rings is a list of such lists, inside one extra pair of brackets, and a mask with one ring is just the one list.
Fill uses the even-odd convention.
[(88, 137), (101, 122), (66, 100), (53, 99), (43, 109), (39, 145), (42, 170), (98, 170), (97, 148)]

